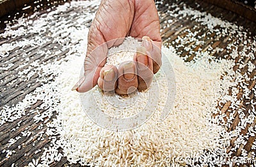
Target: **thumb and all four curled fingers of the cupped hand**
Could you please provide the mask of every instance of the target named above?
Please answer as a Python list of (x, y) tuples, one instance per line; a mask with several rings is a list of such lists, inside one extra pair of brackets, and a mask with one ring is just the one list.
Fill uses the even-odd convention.
[[(122, 42), (115, 41), (115, 43)], [(108, 47), (97, 47), (84, 61), (84, 76), (72, 88), (79, 92), (86, 92), (96, 84), (104, 91), (113, 91), (119, 95), (127, 95), (136, 89), (146, 90), (152, 83), (154, 74), (161, 67), (161, 49), (158, 43), (152, 42), (148, 36), (143, 36), (141, 47), (137, 48), (134, 62), (122, 63), (117, 69), (113, 65), (104, 67), (106, 57), (97, 56), (107, 54)], [(161, 43), (160, 43), (161, 44)], [(103, 68), (102, 68), (103, 67)]]

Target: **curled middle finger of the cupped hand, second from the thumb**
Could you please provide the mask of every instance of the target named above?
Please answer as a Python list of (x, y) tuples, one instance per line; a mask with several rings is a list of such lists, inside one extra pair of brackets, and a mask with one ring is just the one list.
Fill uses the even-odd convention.
[(118, 84), (116, 93), (127, 95), (134, 92), (138, 87), (138, 78), (136, 76), (136, 64), (134, 61), (127, 61), (118, 67)]

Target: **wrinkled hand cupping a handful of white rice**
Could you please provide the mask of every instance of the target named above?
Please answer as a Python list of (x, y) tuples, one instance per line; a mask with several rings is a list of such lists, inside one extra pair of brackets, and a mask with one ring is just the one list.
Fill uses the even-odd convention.
[[(136, 88), (147, 89), (161, 67), (159, 31), (154, 0), (102, 0), (88, 34), (84, 77), (72, 90), (86, 92), (98, 84), (104, 91), (125, 95)], [(122, 44), (125, 36), (143, 38), (134, 61), (121, 63), (118, 68), (104, 66), (108, 49)]]

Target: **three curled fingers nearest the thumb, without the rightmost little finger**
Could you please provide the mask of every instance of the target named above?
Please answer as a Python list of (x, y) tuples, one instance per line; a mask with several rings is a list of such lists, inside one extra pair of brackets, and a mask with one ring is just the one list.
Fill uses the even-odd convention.
[(154, 64), (148, 51), (152, 50), (150, 49), (152, 45), (150, 43), (148, 43), (150, 45), (144, 44), (147, 49), (143, 46), (138, 47), (136, 54), (134, 54), (134, 61), (124, 62), (118, 69), (113, 65), (101, 68), (97, 81), (101, 90), (115, 90), (119, 95), (127, 95), (136, 89), (142, 91), (150, 86), (154, 76)]

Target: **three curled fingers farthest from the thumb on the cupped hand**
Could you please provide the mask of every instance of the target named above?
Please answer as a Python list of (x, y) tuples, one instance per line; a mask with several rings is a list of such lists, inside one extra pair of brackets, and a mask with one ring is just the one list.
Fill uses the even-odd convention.
[(120, 95), (132, 93), (136, 88), (138, 91), (146, 90), (162, 65), (161, 42), (152, 42), (148, 36), (143, 36), (142, 45), (134, 55), (135, 64), (131, 61), (118, 68), (119, 78), (115, 91)]

